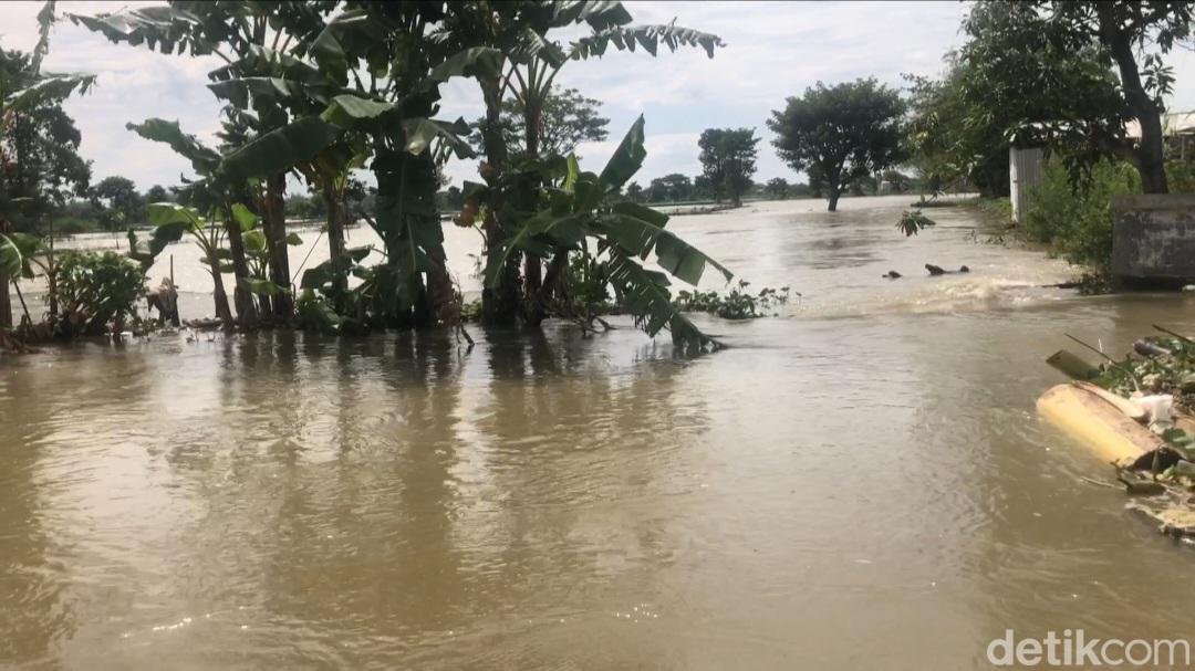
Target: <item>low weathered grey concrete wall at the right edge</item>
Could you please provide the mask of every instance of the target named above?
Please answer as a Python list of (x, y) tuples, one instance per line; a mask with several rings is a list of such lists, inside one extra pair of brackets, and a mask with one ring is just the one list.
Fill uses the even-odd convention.
[(1195, 196), (1123, 196), (1113, 201), (1113, 275), (1123, 279), (1195, 279)]

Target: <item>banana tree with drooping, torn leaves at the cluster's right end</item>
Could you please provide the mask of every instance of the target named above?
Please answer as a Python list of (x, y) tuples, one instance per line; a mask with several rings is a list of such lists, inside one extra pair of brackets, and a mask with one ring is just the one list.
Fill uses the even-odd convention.
[[(717, 349), (719, 343), (673, 304), (668, 277), (697, 285), (707, 266), (728, 282), (733, 273), (664, 228), (667, 215), (619, 195), (646, 156), (643, 125), (641, 116), (600, 174), (582, 172), (576, 156), (570, 156), (562, 185), (544, 191), (543, 209), (490, 250), (485, 282), (497, 283), (502, 269), (520, 253), (602, 258), (619, 302), (644, 332), (656, 336), (667, 328), (673, 341), (688, 351)], [(650, 254), (662, 271), (642, 263)]]

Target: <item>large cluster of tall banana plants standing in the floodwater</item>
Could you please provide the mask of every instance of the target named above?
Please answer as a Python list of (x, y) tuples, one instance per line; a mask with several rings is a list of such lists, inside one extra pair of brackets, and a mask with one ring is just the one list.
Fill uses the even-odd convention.
[[(288, 8), (294, 5), (306, 8)], [(130, 127), (191, 159), (201, 180), (185, 191), (196, 195), (189, 204), (198, 210), (184, 208), (170, 217), (164, 210), (160, 216), (166, 218), (159, 223), (170, 227), (171, 235), (191, 232), (203, 240), (201, 246), (213, 247), (214, 281), (225, 261), (215, 248), (222, 223), (233, 261), (270, 261), (268, 277), (251, 275), (246, 261), (246, 269), (237, 271), (238, 288), (294, 296), (286, 254), (278, 254), (286, 236), (277, 210), (286, 176), (298, 173), (330, 205), (329, 258), (302, 273), (301, 294), (295, 296), (302, 321), (333, 331), (421, 326), (451, 321), (452, 303), (459, 319), (460, 297), (447, 271), (435, 192), (439, 170), (449, 156), (474, 155), (465, 140), (468, 125), (437, 118), (441, 86), (465, 78), (480, 85), (486, 106), (485, 156), (478, 171), (484, 184), (466, 187), (464, 217), (479, 218), (484, 232), (486, 312), (510, 316), (522, 301), (541, 315), (553, 314), (560, 294), (540, 290), (541, 260), (552, 261), (543, 284), (558, 285), (566, 282), (570, 257), (583, 256), (593, 263), (601, 259), (598, 276), (644, 331), (655, 336), (669, 328), (684, 346), (716, 345), (673, 308), (668, 277), (695, 284), (707, 265), (727, 278), (729, 271), (667, 230), (664, 215), (619, 196), (645, 155), (643, 119), (600, 174), (582, 172), (575, 158), (539, 158), (534, 152), (513, 165), (492, 122), (507, 96), (519, 97), (532, 113), (541, 109), (566, 62), (608, 49), (655, 55), (662, 47), (698, 47), (712, 57), (722, 45), (717, 36), (674, 24), (632, 25), (621, 2), (593, 0), (173, 1), (75, 19), (117, 42), (223, 60), (210, 73), (209, 88), (227, 104), (226, 125), (238, 128), (235, 141), (216, 152), (182, 134), (177, 124), (149, 119)], [(568, 44), (549, 36), (577, 25), (589, 32)], [(538, 134), (531, 121), (528, 133)], [(528, 147), (535, 144), (529, 135)], [(357, 168), (373, 172), (378, 185), (376, 216), (367, 222), (381, 240), (375, 251), (381, 261), (370, 266), (363, 265), (369, 248), (347, 248), (337, 208), (348, 174)], [(245, 192), (264, 193), (253, 209), (263, 222), (266, 257), (256, 256), (263, 241), (256, 224), (240, 223), (233, 211), (233, 203), (247, 202)], [(165, 239), (166, 229), (161, 235)], [(652, 257), (662, 270), (648, 264)], [(534, 279), (520, 297), (515, 285), (525, 260), (527, 278)], [(527, 319), (528, 312), (522, 314)]]

